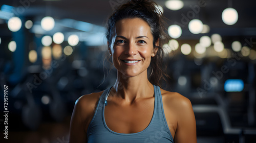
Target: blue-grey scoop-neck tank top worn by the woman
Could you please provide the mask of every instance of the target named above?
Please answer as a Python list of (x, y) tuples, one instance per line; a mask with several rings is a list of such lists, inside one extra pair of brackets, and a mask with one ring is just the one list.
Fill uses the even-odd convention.
[(105, 123), (104, 108), (111, 87), (101, 94), (92, 121), (87, 130), (88, 143), (104, 142), (145, 142), (163, 143), (173, 142), (173, 136), (168, 128), (163, 111), (163, 102), (160, 87), (154, 85), (154, 112), (150, 124), (137, 133), (117, 133), (112, 131)]

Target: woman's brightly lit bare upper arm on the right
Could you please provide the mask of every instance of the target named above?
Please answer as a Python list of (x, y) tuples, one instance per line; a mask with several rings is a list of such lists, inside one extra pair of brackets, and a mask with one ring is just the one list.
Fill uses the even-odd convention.
[(177, 106), (177, 130), (175, 133), (175, 142), (197, 142), (196, 119), (191, 102), (181, 97)]

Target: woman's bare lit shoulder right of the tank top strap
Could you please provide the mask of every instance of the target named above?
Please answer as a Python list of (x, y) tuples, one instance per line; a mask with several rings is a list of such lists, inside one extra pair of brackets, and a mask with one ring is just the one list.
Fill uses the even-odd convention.
[[(182, 96), (178, 92), (170, 92), (161, 89), (163, 103), (169, 105), (170, 108), (187, 109), (191, 108), (191, 102), (188, 98)], [(177, 108), (176, 108), (177, 109)]]

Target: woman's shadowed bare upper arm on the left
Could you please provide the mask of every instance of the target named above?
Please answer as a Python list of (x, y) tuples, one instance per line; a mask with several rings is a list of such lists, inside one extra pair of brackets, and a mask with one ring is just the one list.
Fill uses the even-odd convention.
[(79, 98), (74, 106), (70, 121), (70, 143), (87, 142), (87, 135), (84, 130), (84, 116), (82, 99)]

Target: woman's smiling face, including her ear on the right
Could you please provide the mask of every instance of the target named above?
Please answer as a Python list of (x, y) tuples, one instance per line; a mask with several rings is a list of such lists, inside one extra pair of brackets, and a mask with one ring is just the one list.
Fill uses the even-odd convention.
[[(157, 48), (148, 24), (140, 18), (125, 18), (116, 22), (110, 53), (115, 68), (127, 77), (146, 72)], [(158, 45), (158, 43), (156, 43)]]

